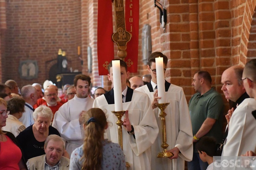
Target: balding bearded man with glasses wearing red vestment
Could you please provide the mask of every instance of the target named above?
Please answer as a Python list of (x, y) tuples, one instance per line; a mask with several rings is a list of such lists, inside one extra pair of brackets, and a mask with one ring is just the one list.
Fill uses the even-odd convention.
[(45, 89), (45, 102), (41, 104), (41, 105), (48, 106), (52, 110), (53, 116), (59, 110), (59, 108), (63, 105), (62, 103), (57, 101), (57, 95), (58, 95), (58, 93), (56, 92), (55, 88), (49, 88), (49, 87), (46, 88)]

